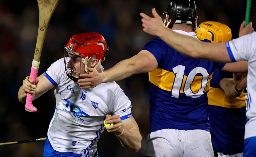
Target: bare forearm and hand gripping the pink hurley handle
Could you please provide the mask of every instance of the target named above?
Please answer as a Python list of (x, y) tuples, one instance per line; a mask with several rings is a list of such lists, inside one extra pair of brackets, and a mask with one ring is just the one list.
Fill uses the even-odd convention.
[(33, 84), (33, 80), (27, 76), (25, 80), (23, 80), (23, 84), (18, 92), (18, 99), (22, 103), (26, 103), (27, 93), (33, 94), (33, 100), (40, 97), (46, 91), (50, 90), (52, 87), (52, 83), (42, 74), (37, 77), (36, 85)]

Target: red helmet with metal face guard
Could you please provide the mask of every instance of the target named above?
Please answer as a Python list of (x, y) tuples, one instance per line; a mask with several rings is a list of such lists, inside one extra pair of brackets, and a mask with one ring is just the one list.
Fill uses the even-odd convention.
[[(66, 74), (71, 80), (77, 81), (81, 74), (81, 70), (90, 73), (87, 71), (86, 67), (92, 56), (96, 56), (98, 59), (98, 64), (93, 67), (97, 68), (100, 63), (104, 61), (107, 53), (107, 43), (104, 37), (98, 33), (81, 33), (72, 36), (67, 45), (64, 46)], [(73, 67), (74, 63), (78, 61), (80, 64), (79, 70)], [(81, 69), (81, 62), (84, 63), (84, 69)]]

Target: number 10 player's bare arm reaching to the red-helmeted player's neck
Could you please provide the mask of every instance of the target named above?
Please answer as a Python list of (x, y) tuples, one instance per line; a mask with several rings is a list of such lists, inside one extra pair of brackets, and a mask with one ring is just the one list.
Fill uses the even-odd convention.
[(140, 51), (130, 59), (117, 63), (114, 67), (98, 73), (95, 69), (88, 68), (90, 74), (81, 74), (78, 80), (82, 89), (93, 88), (102, 82), (119, 81), (133, 74), (148, 73), (158, 66), (156, 58), (147, 50)]

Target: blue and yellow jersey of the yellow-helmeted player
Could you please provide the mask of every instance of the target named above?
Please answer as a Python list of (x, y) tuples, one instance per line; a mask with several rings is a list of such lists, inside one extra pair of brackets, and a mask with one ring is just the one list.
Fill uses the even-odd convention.
[(246, 90), (237, 98), (229, 98), (220, 87), (223, 78), (233, 78), (232, 73), (216, 69), (210, 83), (208, 111), (212, 146), (215, 151), (226, 154), (243, 152), (244, 125), (246, 119)]

